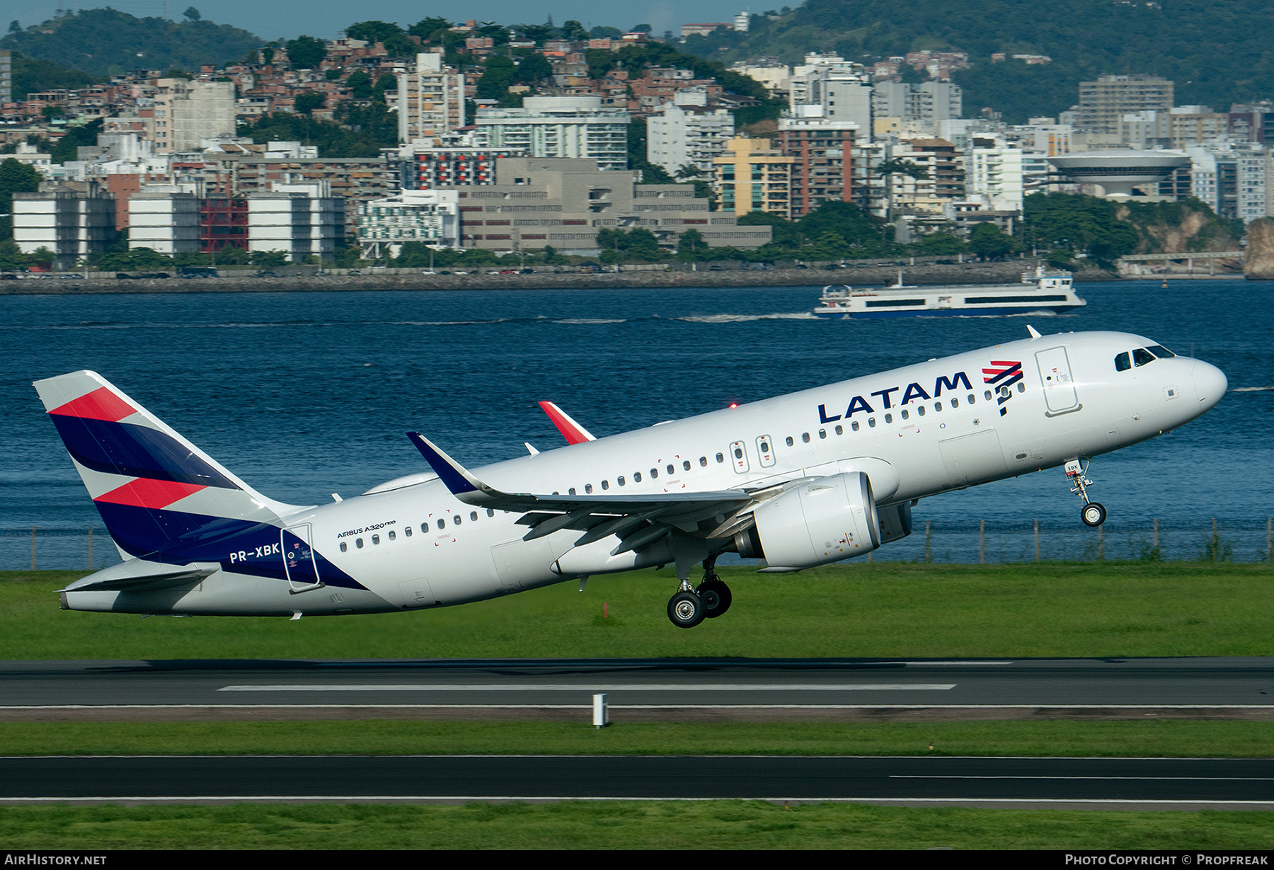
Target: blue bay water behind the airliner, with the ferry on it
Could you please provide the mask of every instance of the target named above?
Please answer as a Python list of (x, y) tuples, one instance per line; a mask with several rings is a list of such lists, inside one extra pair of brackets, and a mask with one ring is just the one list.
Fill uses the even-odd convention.
[[(261, 492), (355, 494), (423, 464), (419, 429), (480, 465), (562, 445), (536, 401), (604, 436), (1026, 335), (1126, 330), (1223, 368), (1208, 415), (1099, 457), (1105, 554), (1198, 555), (1217, 518), (1257, 558), (1274, 513), (1274, 283), (1084, 284), (1057, 317), (823, 321), (818, 288), (0, 297), (0, 568), (83, 567), (101, 520), (31, 381), (92, 368)], [(935, 559), (1093, 557), (1060, 470), (926, 499)], [(61, 534), (62, 536), (57, 536)], [(18, 536), (25, 535), (25, 538)], [(46, 536), (50, 535), (50, 536)], [(94, 562), (113, 560), (104, 536)], [(1113, 548), (1113, 549), (1112, 549)], [(1175, 548), (1175, 549), (1173, 549)], [(922, 535), (882, 550), (920, 558)]]

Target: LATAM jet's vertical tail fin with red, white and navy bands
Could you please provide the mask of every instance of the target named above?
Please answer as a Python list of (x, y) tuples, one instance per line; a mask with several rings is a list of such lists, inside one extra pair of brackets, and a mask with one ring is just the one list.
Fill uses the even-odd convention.
[(125, 558), (187, 563), (297, 508), (265, 498), (96, 372), (36, 381)]

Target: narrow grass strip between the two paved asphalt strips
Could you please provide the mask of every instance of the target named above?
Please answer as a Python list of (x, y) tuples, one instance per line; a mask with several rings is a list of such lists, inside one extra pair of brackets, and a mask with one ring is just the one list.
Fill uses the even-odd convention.
[[(321, 715), (321, 713), (318, 713)], [(619, 716), (623, 711), (619, 711)], [(929, 749), (933, 744), (934, 749)], [(1268, 721), (0, 722), (0, 755), (1269, 757)]]

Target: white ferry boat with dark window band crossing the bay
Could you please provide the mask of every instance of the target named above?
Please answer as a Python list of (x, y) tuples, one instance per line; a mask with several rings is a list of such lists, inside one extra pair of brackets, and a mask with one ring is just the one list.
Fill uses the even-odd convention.
[(1071, 287), (1069, 271), (1037, 266), (1023, 273), (1020, 284), (968, 287), (905, 287), (855, 290), (828, 284), (814, 308), (815, 317), (861, 320), (869, 317), (994, 317), (1005, 315), (1060, 315), (1088, 304)]

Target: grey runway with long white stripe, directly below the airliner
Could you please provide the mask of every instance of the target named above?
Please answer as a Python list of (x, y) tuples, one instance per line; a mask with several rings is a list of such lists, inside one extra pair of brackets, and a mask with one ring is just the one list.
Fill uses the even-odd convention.
[[(0, 720), (61, 711), (1194, 711), (1274, 716), (1274, 659), (0, 662)], [(308, 712), (307, 712), (308, 711)], [(786, 711), (786, 713), (782, 713)], [(964, 711), (956, 713), (956, 711)]]

